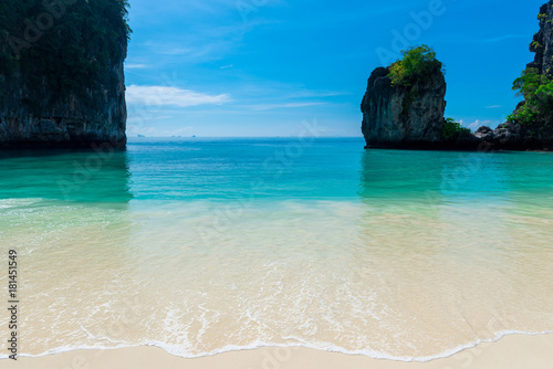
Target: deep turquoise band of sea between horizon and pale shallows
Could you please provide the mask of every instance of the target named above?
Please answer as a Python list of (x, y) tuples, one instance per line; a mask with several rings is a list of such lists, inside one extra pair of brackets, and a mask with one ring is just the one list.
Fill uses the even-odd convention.
[[(363, 140), (132, 139), (127, 151), (0, 154), (0, 198), (445, 200), (553, 192), (553, 155), (363, 150)], [(107, 158), (107, 159), (106, 159)], [(489, 199), (492, 200), (492, 199)]]

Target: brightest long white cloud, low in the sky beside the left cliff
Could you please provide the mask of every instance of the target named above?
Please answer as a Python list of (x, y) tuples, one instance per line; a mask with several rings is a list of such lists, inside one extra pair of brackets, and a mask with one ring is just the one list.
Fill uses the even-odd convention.
[(128, 104), (147, 106), (197, 106), (221, 105), (230, 102), (230, 95), (208, 95), (190, 89), (167, 86), (138, 86), (127, 87), (126, 98)]

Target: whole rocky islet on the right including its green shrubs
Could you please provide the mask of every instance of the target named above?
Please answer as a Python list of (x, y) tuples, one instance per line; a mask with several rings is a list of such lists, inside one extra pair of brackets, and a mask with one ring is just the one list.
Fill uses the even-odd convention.
[(524, 101), (507, 123), (471, 133), (445, 118), (442, 64), (431, 48), (420, 45), (371, 74), (361, 105), (366, 148), (553, 150), (553, 0), (538, 19), (540, 31), (530, 44), (534, 61), (513, 82)]

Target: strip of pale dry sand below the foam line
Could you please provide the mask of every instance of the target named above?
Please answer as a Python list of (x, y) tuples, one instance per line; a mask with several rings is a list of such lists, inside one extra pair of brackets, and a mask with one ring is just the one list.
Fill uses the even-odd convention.
[(430, 361), (396, 361), (362, 355), (348, 355), (304, 347), (263, 347), (228, 351), (198, 358), (182, 358), (154, 346), (115, 349), (86, 349), (40, 357), (0, 359), (0, 368), (154, 368), (165, 369), (304, 369), (304, 368), (383, 368), (383, 369), (453, 369), (453, 368), (551, 368), (553, 334), (507, 335), (482, 342), (449, 357)]

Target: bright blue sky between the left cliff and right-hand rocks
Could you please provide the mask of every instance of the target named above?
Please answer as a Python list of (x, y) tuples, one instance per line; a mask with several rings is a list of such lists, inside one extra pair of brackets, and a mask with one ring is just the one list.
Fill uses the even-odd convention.
[(544, 0), (131, 0), (127, 134), (361, 136), (371, 72), (428, 44), (446, 65), (446, 115), (495, 126)]

